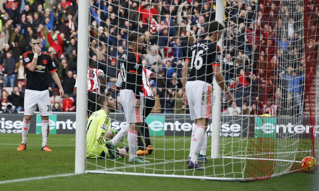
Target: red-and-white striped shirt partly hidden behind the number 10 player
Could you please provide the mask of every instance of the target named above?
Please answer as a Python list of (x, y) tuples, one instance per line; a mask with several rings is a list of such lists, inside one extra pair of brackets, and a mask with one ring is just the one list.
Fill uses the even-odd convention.
[[(150, 88), (150, 80), (153, 80), (152, 79), (152, 76), (154, 75), (155, 73), (152, 72), (151, 70), (148, 70), (148, 69), (143, 69), (143, 76), (142, 76), (142, 90), (143, 90), (143, 95), (145, 97), (154, 97), (154, 94), (152, 92), (152, 89)], [(122, 83), (123, 83), (123, 77), (122, 77), (122, 73), (120, 72), (118, 75), (117, 75), (117, 81), (115, 83), (115, 88), (116, 89), (121, 89), (122, 87)]]

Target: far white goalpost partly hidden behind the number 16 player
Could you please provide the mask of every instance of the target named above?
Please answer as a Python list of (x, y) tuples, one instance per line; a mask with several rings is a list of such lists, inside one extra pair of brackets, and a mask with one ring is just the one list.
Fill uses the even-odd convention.
[[(216, 1), (216, 18), (218, 22), (224, 24), (224, 0)], [(223, 50), (223, 37), (218, 41), (218, 45), (220, 47), (221, 53)], [(220, 55), (220, 64), (222, 64), (223, 55)], [(214, 78), (214, 96), (216, 97), (214, 106), (213, 106), (213, 117), (212, 117), (212, 125), (211, 125), (211, 158), (219, 157), (219, 132), (220, 132), (220, 100), (221, 100), (221, 88), (217, 84)]]

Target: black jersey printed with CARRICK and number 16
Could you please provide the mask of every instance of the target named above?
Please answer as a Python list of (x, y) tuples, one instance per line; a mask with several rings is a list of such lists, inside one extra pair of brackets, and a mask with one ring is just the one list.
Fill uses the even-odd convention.
[(187, 81), (201, 80), (212, 84), (213, 68), (220, 66), (220, 48), (210, 40), (200, 40), (188, 49), (190, 72)]

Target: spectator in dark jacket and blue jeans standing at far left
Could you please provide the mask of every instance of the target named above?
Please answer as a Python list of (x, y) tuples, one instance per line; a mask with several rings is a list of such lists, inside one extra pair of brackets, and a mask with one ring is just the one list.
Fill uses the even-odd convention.
[(7, 59), (5, 60), (5, 67), (4, 67), (4, 73), (7, 73), (6, 82), (4, 84), (4, 87), (8, 87), (9, 83), (11, 87), (13, 88), (16, 84), (16, 61), (12, 57), (11, 52), (7, 52)]

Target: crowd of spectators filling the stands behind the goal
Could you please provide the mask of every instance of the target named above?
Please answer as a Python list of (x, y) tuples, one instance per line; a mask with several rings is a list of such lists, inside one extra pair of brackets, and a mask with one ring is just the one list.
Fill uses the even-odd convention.
[[(78, 0), (0, 1), (0, 89), (3, 112), (23, 111), (26, 79), (23, 52), (30, 35), (41, 37), (41, 51), (57, 63), (65, 97), (57, 99), (49, 83), (53, 111), (75, 111), (72, 95), (77, 73)], [(303, 115), (303, 8), (294, 1), (257, 5), (255, 0), (225, 0), (222, 67), (235, 102), (222, 97), (221, 112), (229, 115)], [(266, 4), (266, 6), (264, 6)], [(3, 7), (1, 7), (1, 5)], [(162, 76), (173, 97), (151, 81), (154, 113), (187, 113), (182, 100), (181, 42), (189, 45), (215, 19), (214, 0), (91, 0), (89, 56), (104, 71), (108, 91), (120, 71), (119, 56), (128, 48), (129, 31), (144, 34), (143, 67)], [(26, 39), (26, 40), (25, 40)], [(119, 96), (116, 110), (123, 112)], [(8, 105), (8, 103), (11, 103)], [(14, 106), (14, 107), (12, 107)]]

